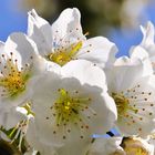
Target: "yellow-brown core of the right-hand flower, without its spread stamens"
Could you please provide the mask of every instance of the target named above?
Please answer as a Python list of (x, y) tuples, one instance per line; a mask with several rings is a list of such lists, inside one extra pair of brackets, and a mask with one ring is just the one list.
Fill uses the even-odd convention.
[(130, 105), (130, 100), (125, 97), (122, 93), (112, 93), (112, 97), (115, 101), (120, 117), (126, 115), (128, 110), (133, 111), (134, 113), (137, 113), (137, 110)]

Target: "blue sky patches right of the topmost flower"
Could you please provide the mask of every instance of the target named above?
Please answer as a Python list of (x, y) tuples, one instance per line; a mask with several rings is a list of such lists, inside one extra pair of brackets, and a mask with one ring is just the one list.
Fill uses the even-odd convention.
[[(142, 25), (145, 25), (148, 20), (155, 24), (155, 2), (149, 4), (143, 14), (145, 16), (145, 20), (141, 22)], [(118, 46), (118, 55), (127, 55), (130, 48), (138, 44), (143, 37), (140, 27), (137, 27), (136, 30), (126, 30), (126, 33), (125, 35), (122, 31), (115, 30), (108, 38)]]

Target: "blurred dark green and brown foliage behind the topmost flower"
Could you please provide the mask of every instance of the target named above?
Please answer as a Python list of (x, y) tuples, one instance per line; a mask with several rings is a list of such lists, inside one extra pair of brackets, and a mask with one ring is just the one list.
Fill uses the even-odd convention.
[[(23, 0), (22, 6), (27, 11), (34, 8), (37, 12), (53, 22), (65, 8), (79, 8), (82, 14), (82, 27), (90, 37), (108, 34), (112, 28), (121, 28), (122, 23), (130, 23), (130, 18), (122, 12), (124, 3), (128, 0)], [(134, 4), (147, 0), (133, 1)], [(131, 2), (130, 2), (131, 4)], [(123, 14), (122, 14), (123, 13)], [(132, 13), (133, 14), (133, 13)], [(132, 21), (131, 21), (132, 22)], [(127, 25), (126, 24), (126, 25)]]

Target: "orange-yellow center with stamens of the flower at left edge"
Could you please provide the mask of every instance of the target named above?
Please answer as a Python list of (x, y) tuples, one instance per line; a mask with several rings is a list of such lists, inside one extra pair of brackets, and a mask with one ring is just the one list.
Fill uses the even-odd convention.
[(0, 86), (2, 86), (1, 96), (16, 97), (25, 90), (25, 82), (29, 80), (30, 74), (28, 71), (19, 71), (17, 64), (11, 59), (6, 61), (3, 71), (1, 71)]

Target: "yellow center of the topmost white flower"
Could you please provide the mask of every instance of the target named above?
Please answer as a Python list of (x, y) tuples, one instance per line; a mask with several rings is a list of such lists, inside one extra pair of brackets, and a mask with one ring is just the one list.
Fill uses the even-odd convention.
[(55, 48), (53, 53), (48, 55), (48, 60), (53, 61), (61, 66), (75, 59), (76, 53), (82, 48), (82, 41), (73, 43), (68, 48)]

